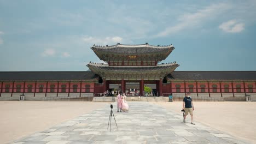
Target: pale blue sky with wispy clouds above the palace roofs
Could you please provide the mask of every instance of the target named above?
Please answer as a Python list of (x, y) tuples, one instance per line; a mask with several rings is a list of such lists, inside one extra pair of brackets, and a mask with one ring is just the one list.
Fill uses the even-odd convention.
[(176, 70), (256, 70), (256, 1), (2, 1), (0, 71), (83, 71), (96, 45), (169, 45)]

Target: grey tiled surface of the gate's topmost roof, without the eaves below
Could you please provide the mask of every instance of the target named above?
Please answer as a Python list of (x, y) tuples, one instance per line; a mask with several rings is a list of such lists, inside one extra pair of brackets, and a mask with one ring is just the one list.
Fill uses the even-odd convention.
[(174, 50), (173, 45), (154, 46), (149, 44), (143, 45), (112, 45), (112, 46), (98, 46), (91, 47), (94, 51), (110, 52), (110, 53), (124, 53), (124, 54), (139, 54), (139, 53), (154, 53), (154, 52), (170, 52)]

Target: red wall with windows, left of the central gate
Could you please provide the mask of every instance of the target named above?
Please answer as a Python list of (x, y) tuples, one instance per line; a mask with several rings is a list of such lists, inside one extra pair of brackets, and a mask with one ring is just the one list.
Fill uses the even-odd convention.
[(0, 100), (72, 99), (94, 96), (94, 82), (0, 82)]

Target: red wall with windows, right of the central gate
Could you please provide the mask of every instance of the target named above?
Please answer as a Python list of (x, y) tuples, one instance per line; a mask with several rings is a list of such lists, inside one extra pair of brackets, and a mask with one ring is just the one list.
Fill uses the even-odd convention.
[(246, 101), (246, 96), (251, 95), (256, 101), (256, 82), (171, 82), (163, 83), (163, 96), (173, 95), (176, 100), (184, 98), (190, 92), (194, 99), (217, 101)]

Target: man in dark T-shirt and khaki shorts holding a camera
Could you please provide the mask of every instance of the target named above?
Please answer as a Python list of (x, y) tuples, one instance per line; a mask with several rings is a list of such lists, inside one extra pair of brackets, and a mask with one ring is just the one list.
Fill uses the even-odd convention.
[(190, 97), (190, 93), (187, 93), (186, 97), (184, 97), (183, 99), (183, 110), (185, 110), (185, 116), (184, 116), (183, 122), (184, 123), (186, 122), (186, 116), (189, 113), (191, 116), (191, 124), (195, 124), (193, 122), (193, 111), (195, 109), (194, 109), (192, 98)]

